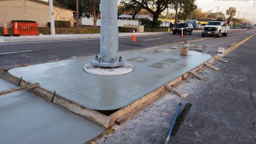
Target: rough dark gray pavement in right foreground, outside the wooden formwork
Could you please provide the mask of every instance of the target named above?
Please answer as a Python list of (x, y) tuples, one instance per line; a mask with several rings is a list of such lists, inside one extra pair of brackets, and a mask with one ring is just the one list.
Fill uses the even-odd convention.
[(169, 143), (248, 143), (256, 141), (255, 36), (200, 73), (204, 83), (191, 79), (178, 88), (186, 99), (169, 93), (115, 132), (95, 143), (164, 143), (176, 106), (192, 104), (179, 131)]

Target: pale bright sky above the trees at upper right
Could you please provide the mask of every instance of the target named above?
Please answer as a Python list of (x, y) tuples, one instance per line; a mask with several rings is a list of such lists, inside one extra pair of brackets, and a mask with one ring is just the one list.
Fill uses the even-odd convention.
[[(254, 4), (254, 7), (253, 7)], [(226, 13), (229, 7), (235, 7), (237, 10), (235, 18), (245, 18), (256, 24), (256, 0), (196, 0), (196, 5), (202, 8), (203, 12), (212, 10), (217, 12), (219, 6), (219, 12)]]

